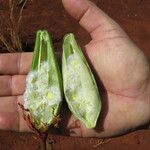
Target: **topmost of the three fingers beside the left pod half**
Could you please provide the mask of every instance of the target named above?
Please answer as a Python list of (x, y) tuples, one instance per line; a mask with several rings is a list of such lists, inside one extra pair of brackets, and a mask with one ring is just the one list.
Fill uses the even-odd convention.
[(27, 74), (32, 61), (32, 53), (0, 54), (0, 74)]

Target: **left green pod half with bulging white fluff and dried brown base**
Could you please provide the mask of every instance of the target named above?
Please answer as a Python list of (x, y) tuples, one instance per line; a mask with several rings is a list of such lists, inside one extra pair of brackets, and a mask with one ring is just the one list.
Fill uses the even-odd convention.
[(24, 108), (30, 112), (32, 126), (46, 132), (55, 124), (62, 103), (62, 81), (52, 39), (39, 30), (24, 93)]

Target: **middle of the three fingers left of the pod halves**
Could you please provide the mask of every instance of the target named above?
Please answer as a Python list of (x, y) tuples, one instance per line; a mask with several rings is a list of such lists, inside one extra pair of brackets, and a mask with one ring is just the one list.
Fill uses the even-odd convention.
[(0, 76), (0, 96), (16, 96), (24, 93), (26, 75)]

